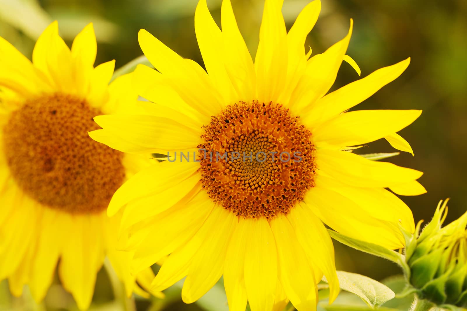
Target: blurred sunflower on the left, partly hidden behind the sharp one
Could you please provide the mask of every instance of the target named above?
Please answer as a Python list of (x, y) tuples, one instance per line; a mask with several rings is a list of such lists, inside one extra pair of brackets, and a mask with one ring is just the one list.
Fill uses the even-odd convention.
[(105, 256), (128, 294), (144, 294), (127, 268), (131, 254), (115, 249), (121, 215), (108, 218), (106, 207), (147, 161), (87, 133), (99, 128), (94, 116), (124, 111), (120, 101), (137, 94), (127, 89), (129, 75), (108, 85), (114, 61), (94, 68), (96, 50), (92, 24), (70, 50), (53, 22), (33, 62), (0, 37), (0, 280), (8, 278), (15, 296), (29, 284), (41, 301), (60, 261), (61, 282), (80, 309), (91, 302)]

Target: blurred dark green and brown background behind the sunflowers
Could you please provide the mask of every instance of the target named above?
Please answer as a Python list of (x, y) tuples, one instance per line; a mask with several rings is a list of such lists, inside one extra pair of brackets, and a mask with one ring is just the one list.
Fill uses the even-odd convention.
[[(284, 1), (288, 28), (308, 2)], [(221, 0), (208, 0), (218, 22), (220, 3)], [(263, 1), (232, 0), (232, 3), (254, 57)], [(202, 64), (194, 32), (196, 5), (196, 0), (0, 0), (0, 36), (30, 58), (35, 39), (50, 21), (58, 20), (61, 35), (69, 44), (92, 21), (98, 40), (96, 64), (116, 59), (119, 68), (142, 55), (137, 33), (145, 28), (180, 55)], [(459, 217), (467, 207), (467, 1), (322, 0), (322, 6), (318, 23), (307, 40), (313, 54), (323, 52), (346, 35), (349, 19), (353, 18), (354, 35), (347, 54), (360, 65), (362, 76), (411, 57), (409, 68), (400, 78), (357, 109), (423, 110), (414, 124), (400, 132), (412, 145), (415, 157), (404, 153), (390, 161), (425, 172), (420, 181), (428, 193), (403, 200), (411, 207), (416, 221), (428, 221), (438, 201), (450, 197), (447, 221)], [(333, 90), (358, 78), (343, 63)], [(385, 141), (364, 149), (363, 153), (393, 151)], [(338, 242), (334, 244), (339, 270), (377, 280), (399, 273), (394, 264)], [(106, 272), (102, 271), (93, 306), (122, 310), (112, 303), (114, 294), (109, 284)], [(22, 299), (13, 299), (7, 296), (6, 283), (0, 286), (0, 310), (2, 301), (18, 310), (75, 308), (59, 285), (50, 289), (45, 304), (39, 307), (30, 303), (27, 293)], [(210, 297), (205, 299), (208, 304), (212, 301)], [(199, 310), (195, 305), (177, 303), (177, 289), (174, 299), (175, 305), (166, 310)], [(224, 304), (225, 297), (217, 299)], [(137, 301), (137, 307), (147, 310), (149, 303)]]

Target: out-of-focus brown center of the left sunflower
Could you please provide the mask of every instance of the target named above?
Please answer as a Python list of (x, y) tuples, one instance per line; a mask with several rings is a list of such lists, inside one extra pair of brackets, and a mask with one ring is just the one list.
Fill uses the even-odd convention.
[(101, 114), (85, 100), (54, 94), (30, 100), (4, 127), (11, 174), (37, 202), (68, 213), (105, 209), (125, 172), (123, 153), (92, 140)]

